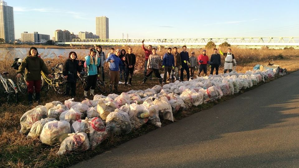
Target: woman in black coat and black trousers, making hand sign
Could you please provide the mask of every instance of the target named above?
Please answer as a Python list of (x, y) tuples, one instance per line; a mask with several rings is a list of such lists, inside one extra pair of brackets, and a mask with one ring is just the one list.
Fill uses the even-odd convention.
[(65, 94), (64, 96), (69, 96), (69, 91), (71, 91), (71, 96), (76, 96), (76, 83), (77, 83), (77, 72), (81, 72), (81, 60), (76, 60), (77, 54), (72, 51), (69, 53), (69, 58), (64, 61), (62, 66), (62, 74), (66, 79)]

